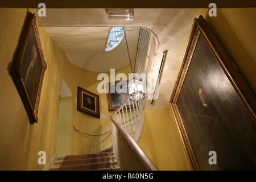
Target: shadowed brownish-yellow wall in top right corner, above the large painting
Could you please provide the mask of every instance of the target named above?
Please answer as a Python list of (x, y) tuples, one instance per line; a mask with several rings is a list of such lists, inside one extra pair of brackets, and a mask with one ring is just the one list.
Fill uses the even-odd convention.
[[(210, 17), (207, 13), (205, 20), (220, 40), (222, 46), (228, 52), (230, 59), (241, 72), (241, 75), (245, 78), (247, 84), (251, 86), (255, 92), (256, 60), (254, 60), (255, 58), (252, 57), (253, 55), (251, 55), (249, 50), (244, 46), (245, 43), (252, 42), (253, 36), (255, 35), (252, 35), (251, 40), (241, 42), (241, 33), (247, 33), (247, 31), (238, 32), (231, 26), (232, 22), (230, 21), (230, 19), (233, 19), (236, 27), (239, 27), (239, 30), (242, 29), (245, 31), (246, 27), (250, 27), (252, 29), (254, 28), (254, 30), (251, 31), (255, 32), (255, 26), (250, 24), (250, 20), (256, 19), (254, 16), (250, 16), (250, 14), (253, 14), (253, 10), (255, 11), (255, 9), (217, 9), (216, 17)], [(241, 19), (241, 17), (246, 17), (246, 19)], [(253, 47), (250, 47), (251, 49), (256, 48), (255, 43), (251, 43), (250, 45), (253, 45)]]

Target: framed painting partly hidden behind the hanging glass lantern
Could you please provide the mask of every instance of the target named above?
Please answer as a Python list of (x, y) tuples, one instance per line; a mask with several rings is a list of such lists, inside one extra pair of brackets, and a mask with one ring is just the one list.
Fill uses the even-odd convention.
[[(129, 97), (128, 90), (128, 82), (127, 81), (116, 81), (108, 83), (108, 106), (110, 111), (117, 110), (123, 102), (126, 101), (127, 97)], [(127, 103), (127, 107), (129, 108), (129, 104)]]

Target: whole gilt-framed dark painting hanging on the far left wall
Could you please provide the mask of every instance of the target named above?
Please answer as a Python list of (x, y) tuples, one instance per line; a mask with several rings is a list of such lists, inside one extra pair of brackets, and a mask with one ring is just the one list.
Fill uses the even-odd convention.
[(11, 75), (31, 124), (38, 122), (40, 93), (46, 68), (36, 16), (28, 13), (14, 56)]

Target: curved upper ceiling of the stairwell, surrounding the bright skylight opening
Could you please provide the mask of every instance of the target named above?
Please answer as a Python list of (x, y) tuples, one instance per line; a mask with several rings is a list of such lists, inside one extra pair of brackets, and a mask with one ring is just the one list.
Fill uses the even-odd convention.
[[(93, 72), (109, 72), (110, 68), (129, 65), (125, 39), (112, 51), (104, 52), (111, 27), (45, 27), (65, 51), (68, 60)], [(126, 28), (131, 60), (135, 60), (139, 27)]]

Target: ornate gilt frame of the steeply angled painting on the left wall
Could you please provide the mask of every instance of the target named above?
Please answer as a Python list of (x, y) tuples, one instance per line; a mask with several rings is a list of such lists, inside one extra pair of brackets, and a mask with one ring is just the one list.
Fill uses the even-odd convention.
[[(35, 108), (32, 108), (23, 78), (20, 73), (20, 67), (22, 65), (22, 58), (23, 58), (24, 51), (25, 51), (25, 48), (27, 45), (28, 33), (29, 33), (31, 26), (35, 32), (36, 43), (37, 43), (37, 46), (39, 49), (40, 59), (42, 60), (42, 71), (41, 71), (41, 75), (40, 75), (38, 93), (36, 95)], [(13, 66), (11, 68), (11, 75), (13, 76), (14, 83), (15, 83), (16, 88), (20, 94), (20, 97), (21, 97), (23, 105), (27, 111), (27, 115), (28, 115), (28, 118), (29, 118), (31, 124), (34, 124), (35, 122), (38, 123), (39, 101), (40, 101), (40, 95), (41, 95), (41, 90), (42, 90), (42, 86), (43, 86), (44, 72), (46, 71), (46, 68), (47, 68), (47, 63), (44, 60), (43, 49), (42, 49), (40, 39), (39, 39), (38, 28), (36, 26), (36, 16), (35, 16), (35, 14), (28, 13), (27, 17), (26, 17), (26, 22), (24, 23), (22, 34), (20, 36), (18, 48), (15, 53)]]

